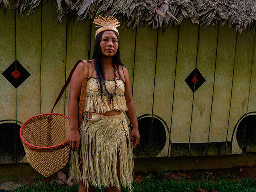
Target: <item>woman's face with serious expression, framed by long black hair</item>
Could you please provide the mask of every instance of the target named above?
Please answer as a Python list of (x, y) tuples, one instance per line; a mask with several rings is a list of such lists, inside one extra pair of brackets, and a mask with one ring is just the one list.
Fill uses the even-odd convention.
[(118, 50), (118, 39), (113, 31), (104, 31), (100, 41), (100, 50), (104, 57), (113, 57)]

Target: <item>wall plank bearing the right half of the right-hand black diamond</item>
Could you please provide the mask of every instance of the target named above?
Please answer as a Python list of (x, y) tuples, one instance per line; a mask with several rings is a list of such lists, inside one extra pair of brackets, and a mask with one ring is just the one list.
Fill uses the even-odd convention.
[(196, 68), (206, 81), (194, 92), (189, 156), (207, 154), (217, 40), (218, 27), (200, 28)]

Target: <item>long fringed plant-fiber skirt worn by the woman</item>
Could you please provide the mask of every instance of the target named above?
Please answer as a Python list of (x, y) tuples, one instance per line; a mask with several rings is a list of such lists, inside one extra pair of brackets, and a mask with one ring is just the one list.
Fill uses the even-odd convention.
[(120, 187), (117, 161), (120, 160), (120, 182), (132, 191), (133, 155), (130, 132), (124, 113), (104, 116), (92, 113), (90, 122), (81, 123), (81, 148), (71, 152), (70, 178), (101, 187)]

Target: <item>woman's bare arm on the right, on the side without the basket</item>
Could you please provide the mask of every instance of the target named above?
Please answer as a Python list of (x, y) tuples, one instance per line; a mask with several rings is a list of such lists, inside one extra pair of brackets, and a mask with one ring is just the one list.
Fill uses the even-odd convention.
[(125, 100), (126, 100), (126, 106), (128, 108), (128, 110), (126, 111), (126, 115), (132, 124), (131, 142), (132, 142), (132, 147), (135, 148), (140, 142), (140, 133), (139, 133), (139, 129), (138, 129), (138, 121), (137, 121), (137, 117), (136, 117), (134, 102), (132, 99), (132, 92), (131, 92), (130, 78), (129, 78), (128, 70), (127, 70), (127, 68), (123, 67), (123, 71), (124, 71), (124, 75), (125, 75), (124, 96), (125, 96)]

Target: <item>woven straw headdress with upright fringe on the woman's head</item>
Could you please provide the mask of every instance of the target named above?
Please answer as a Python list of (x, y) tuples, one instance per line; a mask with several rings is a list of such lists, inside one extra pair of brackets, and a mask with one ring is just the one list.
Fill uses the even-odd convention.
[(120, 26), (120, 24), (114, 16), (110, 16), (110, 17), (106, 16), (106, 18), (104, 18), (104, 17), (98, 15), (94, 19), (93, 23), (99, 25), (99, 26), (97, 26), (99, 28), (98, 28), (98, 30), (96, 30), (95, 38), (100, 32), (107, 31), (107, 30), (114, 31), (119, 35), (117, 27)]

